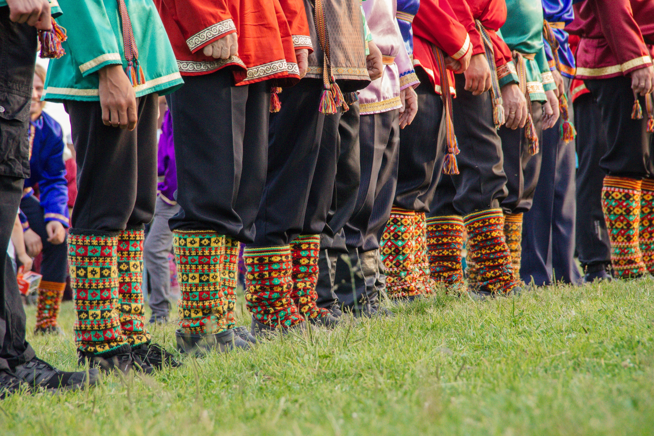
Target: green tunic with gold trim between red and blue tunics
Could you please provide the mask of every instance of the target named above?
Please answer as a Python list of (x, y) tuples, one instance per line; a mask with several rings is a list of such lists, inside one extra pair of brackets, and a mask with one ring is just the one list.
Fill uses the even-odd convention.
[[(534, 55), (533, 60), (525, 59), (527, 90), (531, 101), (546, 101), (545, 91), (553, 90), (556, 85), (543, 84), (541, 75), (551, 75), (543, 44), (543, 5), (540, 0), (506, 0), (506, 9), (506, 22), (498, 34), (511, 50)], [(505, 78), (508, 79), (509, 76)]]

